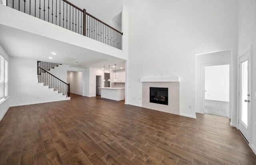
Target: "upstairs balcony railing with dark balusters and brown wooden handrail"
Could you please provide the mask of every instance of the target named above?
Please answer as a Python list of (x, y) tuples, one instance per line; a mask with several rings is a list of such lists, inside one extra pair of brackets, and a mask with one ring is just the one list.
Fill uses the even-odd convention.
[(67, 0), (0, 1), (5, 6), (122, 50), (122, 32)]

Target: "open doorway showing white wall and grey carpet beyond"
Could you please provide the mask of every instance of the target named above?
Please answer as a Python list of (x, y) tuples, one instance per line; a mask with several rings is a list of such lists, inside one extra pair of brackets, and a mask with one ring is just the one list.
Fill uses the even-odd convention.
[(204, 113), (229, 117), (230, 65), (204, 66)]

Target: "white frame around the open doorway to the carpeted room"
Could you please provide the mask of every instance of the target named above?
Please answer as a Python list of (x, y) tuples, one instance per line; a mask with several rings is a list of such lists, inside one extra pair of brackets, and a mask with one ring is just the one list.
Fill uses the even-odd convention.
[(202, 103), (203, 103), (203, 113), (204, 113), (204, 95), (205, 95), (205, 92), (204, 92), (204, 83), (205, 83), (205, 80), (204, 80), (204, 76), (205, 76), (205, 67), (207, 66), (222, 66), (222, 65), (229, 65), (229, 102), (228, 102), (228, 118), (231, 119), (231, 67), (232, 67), (232, 64), (231, 62), (218, 62), (218, 63), (209, 63), (209, 64), (201, 64), (200, 65), (200, 89), (201, 89), (201, 92), (200, 92), (200, 95), (201, 95), (201, 98), (202, 98)]

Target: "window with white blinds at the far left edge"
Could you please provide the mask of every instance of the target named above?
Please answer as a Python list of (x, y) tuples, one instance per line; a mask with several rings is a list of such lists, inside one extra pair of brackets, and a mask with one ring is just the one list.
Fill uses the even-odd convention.
[(0, 99), (8, 96), (8, 62), (0, 56)]

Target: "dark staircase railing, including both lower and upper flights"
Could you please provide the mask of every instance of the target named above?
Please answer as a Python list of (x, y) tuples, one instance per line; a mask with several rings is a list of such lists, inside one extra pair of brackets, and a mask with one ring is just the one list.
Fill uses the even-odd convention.
[(37, 62), (37, 76), (38, 83), (42, 83), (44, 87), (52, 89), (56, 93), (62, 96), (70, 97), (70, 84), (65, 83), (56, 76), (50, 74), (48, 71), (61, 64), (51, 62)]

